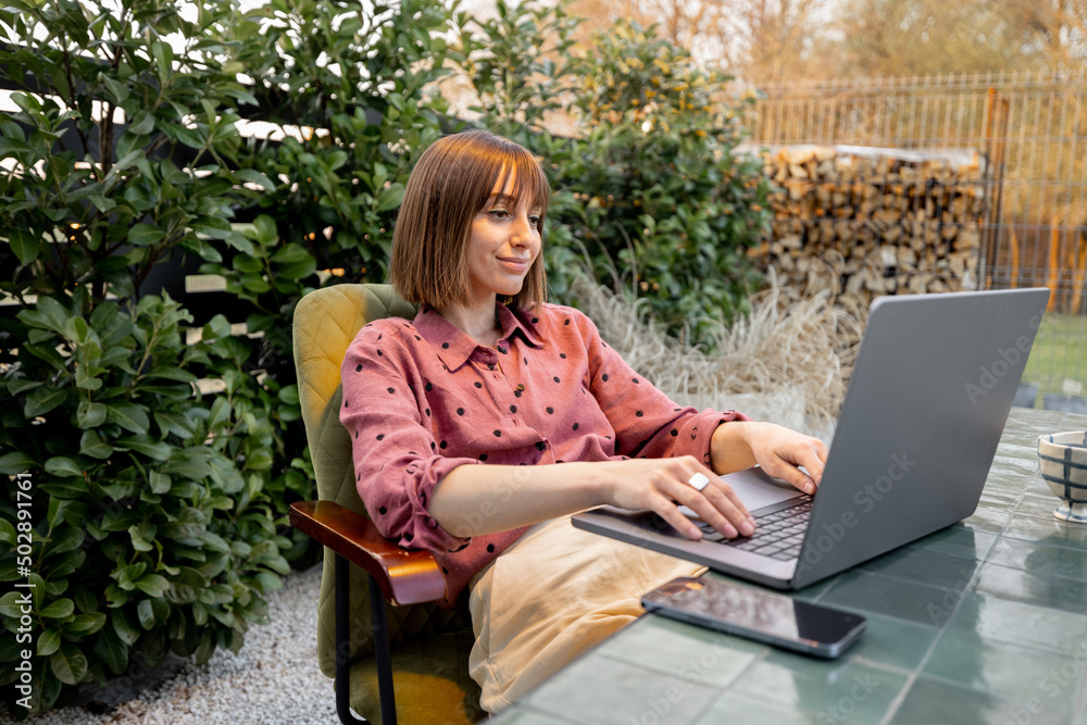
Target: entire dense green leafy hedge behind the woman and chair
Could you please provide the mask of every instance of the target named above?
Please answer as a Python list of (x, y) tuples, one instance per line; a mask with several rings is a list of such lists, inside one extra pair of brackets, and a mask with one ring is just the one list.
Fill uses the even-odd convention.
[[(34, 711), (168, 650), (237, 649), (314, 553), (285, 522), (312, 496), (291, 314), (316, 286), (384, 280), (413, 153), (465, 125), (434, 90), (451, 68), (483, 123), (544, 158), (561, 301), (587, 259), (698, 336), (741, 307), (765, 223), (723, 78), (638, 28), (572, 60), (561, 7), (477, 23), (429, 0), (115, 4), (5, 0), (0, 38), (22, 89), (0, 117), (0, 290), (18, 302), (0, 314), (0, 475), (28, 474), (0, 496), (0, 580), (34, 585)], [(582, 138), (544, 129), (560, 108)], [(242, 116), (300, 130), (243, 139)], [(225, 277), (229, 320), (141, 291), (192, 259)], [(11, 685), (28, 645), (5, 590)]]

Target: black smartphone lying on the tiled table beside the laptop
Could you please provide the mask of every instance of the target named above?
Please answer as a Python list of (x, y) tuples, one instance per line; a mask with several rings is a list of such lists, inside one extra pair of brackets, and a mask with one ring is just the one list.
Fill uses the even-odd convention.
[(646, 611), (833, 660), (867, 621), (841, 610), (720, 579), (680, 577), (641, 598)]

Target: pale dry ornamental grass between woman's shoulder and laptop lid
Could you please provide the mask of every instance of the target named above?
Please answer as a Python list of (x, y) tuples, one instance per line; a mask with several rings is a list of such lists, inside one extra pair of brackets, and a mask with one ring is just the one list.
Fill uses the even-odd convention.
[(677, 402), (736, 409), (825, 436), (846, 395), (862, 323), (836, 307), (829, 290), (810, 287), (786, 302), (773, 276), (770, 283), (751, 298), (747, 317), (732, 327), (713, 321), (712, 354), (665, 335), (644, 300), (632, 303), (587, 276), (573, 291), (601, 337)]

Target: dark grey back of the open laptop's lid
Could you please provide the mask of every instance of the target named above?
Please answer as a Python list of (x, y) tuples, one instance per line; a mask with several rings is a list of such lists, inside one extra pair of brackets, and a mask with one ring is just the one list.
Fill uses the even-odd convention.
[(1023, 289), (873, 303), (791, 586), (974, 512), (1048, 299)]

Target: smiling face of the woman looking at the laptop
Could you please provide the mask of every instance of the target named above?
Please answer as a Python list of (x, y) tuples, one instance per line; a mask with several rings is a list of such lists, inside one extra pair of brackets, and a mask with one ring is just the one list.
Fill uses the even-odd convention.
[(496, 186), (468, 228), (465, 253), (472, 295), (477, 299), (520, 292), (540, 253), (540, 210), (529, 199), (514, 207), (513, 182), (507, 178), (504, 187)]

